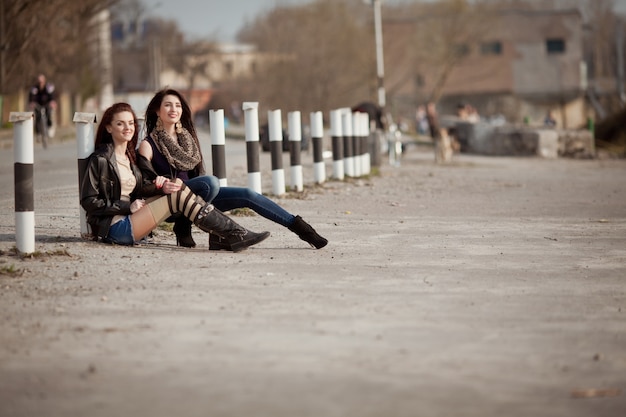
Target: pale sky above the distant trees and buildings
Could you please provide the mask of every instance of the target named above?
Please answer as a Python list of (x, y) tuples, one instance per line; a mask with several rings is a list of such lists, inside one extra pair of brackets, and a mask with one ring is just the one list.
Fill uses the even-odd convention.
[[(311, 0), (141, 0), (148, 14), (176, 20), (189, 39), (206, 38), (234, 41), (246, 22), (277, 5), (306, 4)], [(406, 0), (383, 0), (403, 3)], [(626, 0), (615, 0), (620, 11), (626, 11)], [(364, 7), (366, 7), (364, 5)]]

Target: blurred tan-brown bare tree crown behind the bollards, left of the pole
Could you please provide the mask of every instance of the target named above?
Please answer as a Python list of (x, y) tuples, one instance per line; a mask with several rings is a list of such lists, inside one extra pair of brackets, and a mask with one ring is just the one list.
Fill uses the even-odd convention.
[[(276, 7), (240, 32), (271, 58), (252, 90), (266, 105), (286, 111), (328, 111), (373, 97), (373, 34), (367, 8), (344, 0)], [(371, 46), (370, 46), (371, 45)]]

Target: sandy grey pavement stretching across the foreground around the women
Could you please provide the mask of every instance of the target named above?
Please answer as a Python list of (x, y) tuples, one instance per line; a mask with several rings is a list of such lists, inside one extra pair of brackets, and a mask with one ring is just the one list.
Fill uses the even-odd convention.
[(326, 248), (236, 217), (272, 233), (238, 254), (198, 230), (192, 250), (84, 241), (68, 181), (36, 189), (20, 259), (4, 194), (0, 416), (625, 415), (625, 179), (411, 149), (272, 197)]

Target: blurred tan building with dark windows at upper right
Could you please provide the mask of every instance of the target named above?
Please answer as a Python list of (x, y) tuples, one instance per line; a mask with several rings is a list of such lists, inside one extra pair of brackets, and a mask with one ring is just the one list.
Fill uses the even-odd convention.
[[(492, 13), (484, 18), (488, 28), (480, 36), (455, 40), (456, 61), (448, 68), (424, 60), (399, 63), (406, 54), (389, 57), (395, 61), (386, 65), (388, 83), (395, 84), (391, 97), (395, 110), (406, 112), (438, 89), (443, 113), (453, 114), (463, 102), (471, 103), (481, 116), (503, 116), (512, 123), (540, 124), (552, 111), (561, 127), (583, 125), (588, 107), (580, 11), (512, 8)], [(397, 43), (411, 42), (417, 25), (424, 22), (384, 24), (386, 38)], [(415, 68), (413, 79), (399, 75), (404, 65)]]

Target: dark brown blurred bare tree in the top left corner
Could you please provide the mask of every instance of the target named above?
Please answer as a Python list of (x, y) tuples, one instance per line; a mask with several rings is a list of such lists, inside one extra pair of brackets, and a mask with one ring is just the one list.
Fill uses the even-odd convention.
[(64, 88), (97, 89), (94, 17), (115, 2), (0, 0), (0, 93), (24, 89), (39, 72)]

